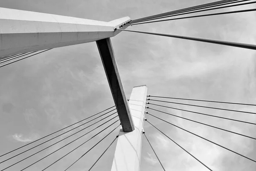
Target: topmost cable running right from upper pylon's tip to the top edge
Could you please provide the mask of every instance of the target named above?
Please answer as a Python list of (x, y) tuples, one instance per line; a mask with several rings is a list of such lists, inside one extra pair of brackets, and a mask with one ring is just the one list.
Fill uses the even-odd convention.
[(170, 12), (164, 12), (164, 13), (160, 13), (160, 14), (155, 14), (155, 15), (151, 15), (151, 16), (148, 16), (148, 17), (138, 18), (138, 19), (132, 20), (132, 22), (139, 22), (139, 21), (143, 21), (143, 20), (146, 20), (146, 19), (157, 18), (157, 17), (161, 17), (161, 16), (164, 16), (164, 15), (169, 15), (169, 14), (173, 14), (173, 13), (178, 13), (178, 12), (179, 13), (186, 12), (186, 11), (191, 10), (191, 9), (197, 10), (198, 8), (205, 7), (205, 6), (207, 6), (209, 8), (209, 7), (211, 7), (215, 4), (223, 4), (223, 3), (232, 2), (232, 1), (238, 1), (238, 0), (220, 0), (220, 1), (217, 1), (217, 2), (205, 3), (205, 4), (202, 4), (202, 5), (192, 6), (192, 7), (188, 7), (188, 8), (184, 8), (184, 9), (178, 9), (178, 10), (170, 11)]

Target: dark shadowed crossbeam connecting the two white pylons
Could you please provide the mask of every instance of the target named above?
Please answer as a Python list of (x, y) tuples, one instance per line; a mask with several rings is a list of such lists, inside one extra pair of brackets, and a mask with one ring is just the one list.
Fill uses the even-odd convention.
[(110, 38), (105, 38), (96, 41), (99, 53), (102, 59), (102, 64), (108, 78), (108, 84), (116, 104), (116, 110), (124, 132), (134, 130), (134, 124), (131, 117), (130, 109), (125, 97), (125, 92), (122, 87), (122, 82), (116, 66), (116, 60), (111, 45)]

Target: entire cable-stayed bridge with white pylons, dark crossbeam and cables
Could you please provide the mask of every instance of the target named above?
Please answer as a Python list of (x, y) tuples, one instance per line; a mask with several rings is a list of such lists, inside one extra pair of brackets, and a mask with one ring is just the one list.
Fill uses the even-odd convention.
[[(87, 20), (81, 18), (74, 17), (65, 17), (58, 16), (52, 14), (43, 14), (36, 12), (26, 12), (21, 10), (13, 10), (13, 9), (4, 9), (1, 8), (1, 48), (0, 48), (0, 67), (5, 67), (9, 64), (13, 64), (20, 60), (24, 60), (26, 58), (35, 56), (37, 54), (49, 51), (52, 48), (58, 48), (62, 46), (70, 46), (75, 44), (87, 43), (96, 41), (99, 53), (102, 59), (102, 64), (105, 69), (105, 73), (108, 78), (108, 83), (110, 85), (111, 93), (115, 102), (115, 106), (109, 107), (107, 109), (102, 110), (99, 113), (96, 113), (90, 117), (87, 117), (79, 122), (75, 122), (72, 125), (62, 128), (61, 130), (56, 130), (55, 132), (45, 135), (40, 139), (35, 140), (34, 142), (30, 142), (21, 147), (14, 148), (11, 151), (5, 151), (3, 154), (0, 154), (0, 165), (4, 165), (6, 162), (12, 161), (16, 157), (23, 157), (28, 151), (35, 151), (39, 146), (44, 145), (45, 143), (50, 142), (51, 145), (47, 147), (35, 151), (35, 153), (30, 154), (29, 156), (25, 156), (21, 158), (17, 162), (13, 162), (10, 165), (7, 165), (1, 170), (12, 170), (12, 167), (20, 164), (21, 162), (29, 159), (35, 155), (40, 155), (40, 153), (46, 149), (54, 147), (54, 145), (63, 142), (64, 140), (68, 140), (67, 144), (61, 146), (58, 149), (55, 149), (50, 154), (46, 156), (42, 156), (41, 159), (32, 162), (30, 165), (27, 165), (24, 168), (20, 168), (20, 171), (26, 170), (31, 166), (38, 164), (38, 162), (42, 162), (44, 159), (49, 157), (52, 154), (58, 153), (61, 149), (67, 147), (68, 145), (76, 142), (78, 139), (86, 136), (89, 133), (94, 133), (89, 139), (85, 142), (78, 145), (72, 151), (63, 155), (59, 159), (52, 161), (51, 164), (46, 165), (45, 168), (40, 168), (40, 170), (50, 169), (52, 165), (58, 165), (58, 162), (61, 159), (69, 157), (70, 154), (76, 153), (83, 145), (86, 145), (91, 139), (94, 137), (103, 134), (102, 139), (98, 142), (95, 142), (94, 145), (90, 147), (87, 151), (84, 151), (84, 154), (81, 156), (77, 156), (76, 159), (70, 159), (70, 165), (66, 168), (69, 170), (76, 165), (76, 163), (81, 160), (85, 155), (88, 154), (93, 148), (97, 148), (97, 145), (100, 143), (104, 143), (106, 137), (112, 136), (113, 141), (108, 145), (105, 151), (102, 151), (102, 155), (96, 159), (94, 163), (91, 164), (88, 170), (93, 169), (97, 162), (100, 161), (101, 157), (105, 154), (111, 145), (116, 142), (116, 151), (113, 158), (113, 164), (111, 170), (113, 171), (138, 171), (140, 169), (140, 155), (141, 155), (141, 143), (143, 135), (145, 136), (145, 140), (148, 141), (150, 147), (152, 148), (155, 156), (157, 157), (158, 162), (160, 163), (163, 170), (165, 169), (164, 163), (161, 162), (161, 159), (158, 157), (160, 151), (156, 151), (154, 146), (151, 145), (151, 139), (148, 138), (149, 132), (143, 129), (144, 122), (151, 125), (155, 128), (159, 133), (165, 136), (170, 141), (174, 142), (178, 147), (180, 147), (183, 151), (186, 152), (189, 156), (195, 159), (195, 162), (201, 163), (208, 170), (214, 170), (206, 163), (202, 162), (199, 157), (196, 157), (191, 152), (186, 150), (182, 145), (177, 143), (171, 136), (167, 135), (166, 130), (161, 130), (151, 121), (152, 119), (158, 119), (161, 122), (165, 122), (169, 125), (172, 125), (175, 128), (183, 130), (193, 136), (197, 136), (204, 141), (210, 142), (224, 150), (229, 151), (230, 153), (234, 153), (239, 157), (249, 160), (250, 162), (256, 162), (255, 158), (244, 155), (243, 153), (237, 152), (227, 146), (223, 146), (218, 142), (209, 140), (204, 136), (198, 135), (196, 132), (192, 132), (183, 128), (182, 126), (176, 125), (175, 123), (166, 121), (159, 116), (159, 113), (164, 113), (168, 116), (179, 117), (181, 119), (188, 120), (190, 122), (194, 122), (200, 125), (205, 125), (207, 127), (211, 127), (214, 129), (218, 129), (221, 131), (225, 131), (231, 134), (236, 134), (238, 136), (243, 136), (248, 139), (256, 139), (255, 136), (250, 136), (244, 133), (239, 133), (238, 131), (231, 131), (224, 128), (219, 128), (214, 125), (209, 125), (207, 123), (196, 121), (194, 119), (189, 119), (183, 116), (177, 116), (175, 113), (164, 112), (163, 108), (170, 108), (173, 110), (181, 110), (188, 113), (195, 113), (198, 115), (204, 115), (209, 118), (215, 117), (224, 120), (230, 120), (232, 122), (240, 122), (247, 125), (256, 125), (254, 122), (243, 121), (242, 119), (232, 119), (225, 116), (215, 116), (209, 113), (201, 113), (194, 110), (184, 110), (182, 108), (175, 107), (174, 104), (193, 106), (193, 107), (204, 107), (211, 108), (213, 110), (225, 110), (236, 113), (243, 113), (248, 115), (254, 115), (255, 112), (243, 111), (243, 110), (233, 110), (232, 108), (222, 108), (222, 107), (209, 107), (201, 104), (189, 104), (182, 102), (182, 100), (186, 101), (194, 101), (194, 102), (209, 102), (214, 104), (231, 104), (231, 105), (243, 105), (243, 106), (256, 106), (256, 104), (247, 104), (247, 103), (236, 103), (230, 101), (212, 101), (212, 100), (201, 100), (201, 99), (188, 99), (188, 98), (179, 98), (179, 97), (166, 97), (166, 96), (150, 96), (148, 94), (148, 89), (145, 85), (134, 87), (131, 97), (128, 99), (125, 97), (125, 92), (122, 87), (122, 81), (119, 76), (118, 68), (116, 65), (115, 55), (113, 52), (113, 47), (111, 44), (111, 37), (116, 36), (120, 32), (137, 32), (149, 35), (158, 35), (164, 37), (171, 38), (180, 38), (186, 39), (190, 41), (201, 41), (206, 43), (215, 43), (223, 46), (233, 46), (233, 48), (244, 48), (244, 49), (256, 49), (255, 44), (249, 43), (240, 43), (240, 42), (231, 42), (224, 40), (213, 40), (207, 38), (195, 38), (188, 37), (183, 35), (171, 35), (171, 34), (163, 34), (163, 33), (155, 33), (155, 32), (143, 32), (127, 29), (128, 26), (139, 25), (139, 24), (147, 24), (154, 22), (162, 22), (169, 20), (181, 20), (193, 17), (207, 17), (212, 15), (224, 15), (224, 14), (233, 14), (233, 13), (242, 13), (242, 12), (253, 12), (256, 9), (241, 9), (234, 10), (229, 12), (211, 12), (211, 10), (225, 9), (233, 6), (244, 6), (248, 4), (256, 3), (252, 0), (221, 0), (213, 3), (202, 4), (199, 6), (192, 6), (185, 9), (179, 9), (171, 12), (166, 12), (162, 14), (156, 14), (148, 17), (138, 18), (135, 20), (131, 20), (129, 17), (120, 18), (117, 20), (113, 20), (111, 22), (102, 22), (96, 20)], [(209, 14), (201, 14), (194, 15), (196, 12), (208, 12)], [(186, 17), (176, 17), (178, 15), (184, 14), (193, 14), (192, 16)], [(171, 17), (171, 18), (169, 18)], [(167, 18), (167, 19), (163, 19)], [(121, 36), (121, 35), (119, 35)], [(170, 100), (171, 99), (171, 100)], [(175, 101), (174, 101), (175, 100)], [(171, 105), (173, 104), (173, 105)], [(111, 118), (111, 119), (110, 119)], [(103, 121), (103, 124), (99, 124), (99, 122)], [(94, 122), (93, 124), (90, 122)], [(87, 128), (91, 126), (97, 126), (93, 130), (87, 131)], [(120, 128), (120, 125), (121, 128)], [(72, 129), (70, 127), (75, 126)], [(78, 128), (78, 129), (77, 129)], [(99, 129), (98, 129), (99, 128)], [(107, 128), (111, 128), (111, 131), (106, 132)], [(79, 130), (80, 129), (80, 130)], [(95, 131), (97, 129), (97, 131)], [(118, 131), (120, 129), (119, 134), (113, 136), (114, 131)], [(73, 138), (73, 135), (77, 133), (81, 133), (83, 131), (84, 134), (79, 136), (78, 138)], [(63, 135), (68, 135), (59, 141), (54, 141), (55, 138), (62, 137)], [(70, 138), (71, 137), (71, 138)], [(73, 138), (73, 139), (72, 139)], [(24, 150), (26, 149), (26, 150)], [(171, 162), (171, 161), (170, 161)], [(2, 167), (2, 166), (1, 166)]]

